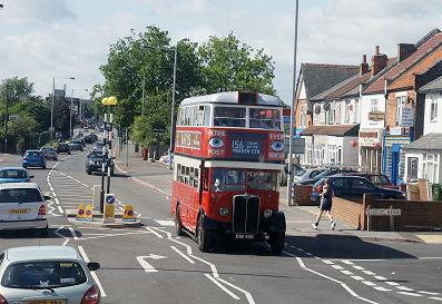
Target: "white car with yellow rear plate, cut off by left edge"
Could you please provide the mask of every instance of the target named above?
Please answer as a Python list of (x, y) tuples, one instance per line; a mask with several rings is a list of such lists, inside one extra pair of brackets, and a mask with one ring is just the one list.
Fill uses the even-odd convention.
[(46, 200), (36, 183), (0, 184), (0, 229), (38, 229), (48, 235)]

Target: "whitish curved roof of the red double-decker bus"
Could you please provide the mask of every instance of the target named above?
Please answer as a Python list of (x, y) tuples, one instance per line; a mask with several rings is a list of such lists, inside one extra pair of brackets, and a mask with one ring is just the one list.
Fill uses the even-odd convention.
[[(253, 97), (253, 102), (242, 102), (239, 99), (243, 96)], [(251, 101), (248, 99), (248, 101)], [(284, 102), (275, 96), (255, 92), (240, 92), (240, 91), (225, 91), (210, 95), (195, 96), (186, 98), (181, 101), (180, 107), (200, 104), (233, 104), (233, 105), (248, 105), (248, 106), (271, 106), (283, 107)]]

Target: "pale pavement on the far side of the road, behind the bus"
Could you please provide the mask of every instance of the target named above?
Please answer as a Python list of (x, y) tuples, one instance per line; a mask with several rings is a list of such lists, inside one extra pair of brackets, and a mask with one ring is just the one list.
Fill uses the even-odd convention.
[[(129, 143), (121, 150), (115, 145), (116, 167), (122, 174), (139, 185), (154, 189), (163, 195), (170, 196), (173, 173), (166, 164), (153, 160), (143, 160), (141, 154), (135, 153), (135, 145)], [(346, 223), (337, 222), (334, 231), (331, 231), (330, 222), (323, 216), (318, 229), (312, 228), (318, 208), (317, 206), (287, 206), (286, 187), (279, 188), (279, 209), (285, 213), (287, 223), (287, 235), (335, 235), (358, 237), (375, 242), (416, 242), (429, 244), (442, 244), (442, 234), (416, 234), (410, 232), (366, 232), (358, 231)]]

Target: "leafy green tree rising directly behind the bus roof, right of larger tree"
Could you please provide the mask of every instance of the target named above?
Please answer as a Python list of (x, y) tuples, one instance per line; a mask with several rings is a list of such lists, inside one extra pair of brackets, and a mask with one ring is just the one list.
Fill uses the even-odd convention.
[(275, 62), (263, 49), (254, 50), (232, 32), (227, 37), (212, 36), (199, 47), (204, 86), (207, 94), (228, 90), (276, 92), (272, 80)]

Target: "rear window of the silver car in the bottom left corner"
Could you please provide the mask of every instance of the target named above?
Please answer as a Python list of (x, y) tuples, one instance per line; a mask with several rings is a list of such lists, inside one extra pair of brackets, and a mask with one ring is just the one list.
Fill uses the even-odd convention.
[(1, 278), (8, 288), (45, 290), (66, 287), (87, 282), (81, 265), (76, 262), (22, 262), (9, 265)]

